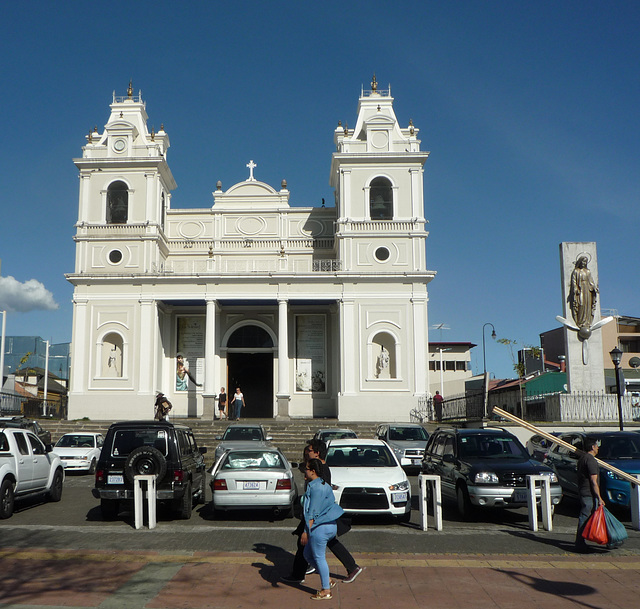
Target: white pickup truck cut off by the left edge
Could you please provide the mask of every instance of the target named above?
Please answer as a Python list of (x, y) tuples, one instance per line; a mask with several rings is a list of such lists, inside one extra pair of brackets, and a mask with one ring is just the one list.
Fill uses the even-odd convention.
[(46, 493), (51, 501), (60, 501), (63, 482), (60, 457), (47, 452), (35, 434), (0, 427), (0, 518), (13, 514), (16, 497)]

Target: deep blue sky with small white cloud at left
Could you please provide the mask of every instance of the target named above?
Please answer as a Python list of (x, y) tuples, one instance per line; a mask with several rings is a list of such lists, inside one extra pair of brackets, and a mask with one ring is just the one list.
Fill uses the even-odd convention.
[[(420, 128), (431, 340), (537, 344), (562, 313), (558, 245), (596, 241), (601, 304), (640, 316), (640, 3), (21, 2), (0, 8), (0, 309), (71, 339), (78, 179), (129, 79), (171, 139), (174, 208), (255, 175), (333, 201), (333, 131), (391, 84)], [(487, 368), (512, 376), (487, 329)]]

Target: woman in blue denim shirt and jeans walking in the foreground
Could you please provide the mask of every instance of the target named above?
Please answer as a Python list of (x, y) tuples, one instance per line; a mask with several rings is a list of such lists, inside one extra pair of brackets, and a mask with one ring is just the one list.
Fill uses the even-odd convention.
[(300, 539), (304, 545), (304, 557), (320, 575), (322, 589), (311, 597), (318, 601), (330, 599), (331, 588), (336, 585), (329, 577), (326, 550), (327, 542), (336, 536), (336, 520), (344, 513), (336, 503), (331, 485), (320, 477), (321, 471), (320, 459), (307, 462), (304, 473), (307, 490), (302, 499), (306, 535), (303, 534)]

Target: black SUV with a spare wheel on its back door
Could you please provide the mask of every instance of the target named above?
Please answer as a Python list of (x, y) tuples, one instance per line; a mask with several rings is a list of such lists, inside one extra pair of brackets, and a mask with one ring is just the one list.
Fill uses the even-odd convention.
[(133, 500), (137, 475), (156, 476), (159, 501), (180, 518), (191, 517), (204, 501), (206, 448), (198, 448), (191, 429), (166, 421), (127, 421), (109, 427), (96, 468), (93, 496), (105, 520), (118, 516), (121, 501)]

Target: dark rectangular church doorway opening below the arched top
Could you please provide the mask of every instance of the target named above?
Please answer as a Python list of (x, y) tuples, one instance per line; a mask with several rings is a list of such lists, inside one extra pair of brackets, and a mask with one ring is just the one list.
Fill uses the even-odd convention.
[(240, 387), (247, 402), (241, 419), (273, 418), (273, 353), (228, 353), (227, 378), (229, 400)]

